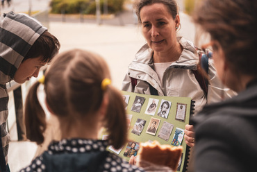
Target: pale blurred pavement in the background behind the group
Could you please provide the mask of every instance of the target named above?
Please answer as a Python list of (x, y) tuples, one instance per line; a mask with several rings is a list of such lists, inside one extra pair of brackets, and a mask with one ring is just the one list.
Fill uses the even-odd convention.
[[(31, 1), (32, 11), (47, 9), (49, 0)], [(0, 8), (1, 12), (13, 10), (26, 12), (28, 1), (13, 0), (10, 7)], [(183, 35), (194, 42), (195, 28), (190, 17), (180, 12), (181, 30)], [(122, 87), (122, 80), (126, 74), (128, 64), (135, 53), (146, 43), (140, 28), (135, 24), (132, 6), (128, 4), (126, 10), (117, 15), (103, 16), (101, 24), (94, 17), (81, 15), (49, 15), (49, 31), (60, 41), (60, 52), (69, 49), (85, 49), (101, 55), (110, 67), (113, 85)], [(15, 129), (14, 129), (15, 130)], [(18, 171), (31, 163), (37, 145), (29, 141), (15, 141), (15, 131), (10, 131), (12, 141), (9, 148), (9, 164), (11, 171)]]

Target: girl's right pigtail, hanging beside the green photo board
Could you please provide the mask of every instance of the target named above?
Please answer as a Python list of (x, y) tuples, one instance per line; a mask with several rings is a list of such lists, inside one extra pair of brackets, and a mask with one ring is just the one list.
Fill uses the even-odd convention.
[(106, 90), (109, 98), (108, 110), (106, 114), (106, 128), (108, 140), (114, 148), (121, 148), (127, 141), (127, 123), (124, 100), (121, 93), (108, 85)]

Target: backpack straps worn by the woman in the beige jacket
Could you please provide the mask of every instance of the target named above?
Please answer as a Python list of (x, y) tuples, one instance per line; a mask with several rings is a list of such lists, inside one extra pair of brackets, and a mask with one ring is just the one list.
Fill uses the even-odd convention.
[[(198, 55), (199, 55), (199, 65), (197, 66), (197, 70), (192, 70), (192, 73), (194, 74), (195, 78), (197, 79), (199, 85), (201, 86), (201, 89), (203, 89), (204, 94), (207, 96), (207, 94), (208, 94), (208, 78), (206, 77), (206, 74), (208, 76), (209, 58), (212, 58), (213, 53), (208, 52), (206, 54), (203, 51), (199, 51)], [(204, 74), (204, 72), (202, 71), (203, 69), (206, 72), (206, 74)], [(135, 85), (137, 85), (137, 83), (138, 83), (138, 79), (131, 78), (131, 84), (132, 84), (133, 89), (135, 89)], [(149, 88), (150, 88), (151, 95), (158, 96), (158, 91), (153, 86), (151, 86), (149, 84)]]

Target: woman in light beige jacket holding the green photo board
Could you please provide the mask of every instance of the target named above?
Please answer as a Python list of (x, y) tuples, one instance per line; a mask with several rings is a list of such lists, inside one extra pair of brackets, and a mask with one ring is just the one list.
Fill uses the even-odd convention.
[[(199, 56), (192, 42), (176, 37), (180, 26), (175, 0), (139, 0), (134, 4), (138, 22), (147, 44), (128, 66), (122, 89), (127, 92), (159, 96), (190, 97), (195, 101), (195, 113), (206, 103), (220, 101), (233, 92), (224, 89), (215, 76), (209, 60), (209, 85), (205, 94), (193, 71), (197, 71)], [(194, 146), (192, 126), (185, 128), (185, 141)]]

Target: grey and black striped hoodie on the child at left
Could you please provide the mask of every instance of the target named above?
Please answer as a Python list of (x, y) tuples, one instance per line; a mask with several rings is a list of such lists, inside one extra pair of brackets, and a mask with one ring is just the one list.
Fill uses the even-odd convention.
[(15, 72), (29, 49), (46, 30), (47, 28), (44, 28), (38, 21), (25, 14), (8, 12), (0, 17), (0, 144), (2, 144), (0, 160), (3, 160), (4, 156), (6, 164), (10, 142), (10, 135), (6, 128), (8, 119), (6, 83), (13, 80)]

